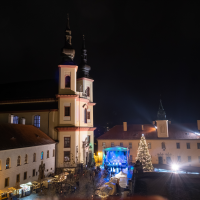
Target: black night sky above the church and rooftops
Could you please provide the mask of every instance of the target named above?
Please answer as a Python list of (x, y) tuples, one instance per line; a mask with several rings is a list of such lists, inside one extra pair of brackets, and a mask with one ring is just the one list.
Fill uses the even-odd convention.
[(96, 126), (151, 123), (160, 94), (172, 123), (200, 119), (200, 12), (196, 3), (6, 2), (0, 7), (0, 83), (56, 77), (69, 13), (77, 64), (82, 34), (86, 37), (90, 74), (95, 80)]

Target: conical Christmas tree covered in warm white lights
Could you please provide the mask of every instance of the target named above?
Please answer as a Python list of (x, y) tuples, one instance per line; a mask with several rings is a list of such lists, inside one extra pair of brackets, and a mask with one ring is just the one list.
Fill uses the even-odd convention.
[(136, 160), (139, 160), (142, 163), (142, 167), (143, 167), (144, 171), (153, 171), (151, 155), (149, 154), (149, 150), (147, 147), (147, 143), (146, 143), (144, 134), (142, 134), (142, 137), (141, 137), (141, 140), (139, 143)]

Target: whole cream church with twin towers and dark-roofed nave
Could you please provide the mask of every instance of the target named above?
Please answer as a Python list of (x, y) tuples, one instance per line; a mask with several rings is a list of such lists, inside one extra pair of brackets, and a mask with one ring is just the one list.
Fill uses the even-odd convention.
[[(59, 80), (2, 86), (0, 122), (34, 125), (56, 141), (56, 167), (92, 162), (94, 152), (93, 79), (83, 36), (81, 63), (73, 62), (69, 18)], [(12, 93), (10, 92), (12, 91)]]

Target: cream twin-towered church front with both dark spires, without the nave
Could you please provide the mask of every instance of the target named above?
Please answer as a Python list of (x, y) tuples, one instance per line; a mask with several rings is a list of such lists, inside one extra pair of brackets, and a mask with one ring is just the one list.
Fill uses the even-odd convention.
[[(82, 59), (79, 67), (74, 63), (75, 50), (67, 18), (66, 42), (59, 68), (58, 98), (58, 166), (88, 164), (94, 153), (93, 80), (89, 78), (87, 50), (83, 38)], [(77, 73), (79, 79), (77, 79)], [(64, 148), (63, 148), (64, 147)]]

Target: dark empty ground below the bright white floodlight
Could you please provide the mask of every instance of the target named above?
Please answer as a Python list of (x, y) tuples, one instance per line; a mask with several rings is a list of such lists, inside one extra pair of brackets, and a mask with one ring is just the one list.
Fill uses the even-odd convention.
[(136, 177), (135, 194), (161, 195), (169, 200), (199, 200), (200, 175), (144, 173)]

